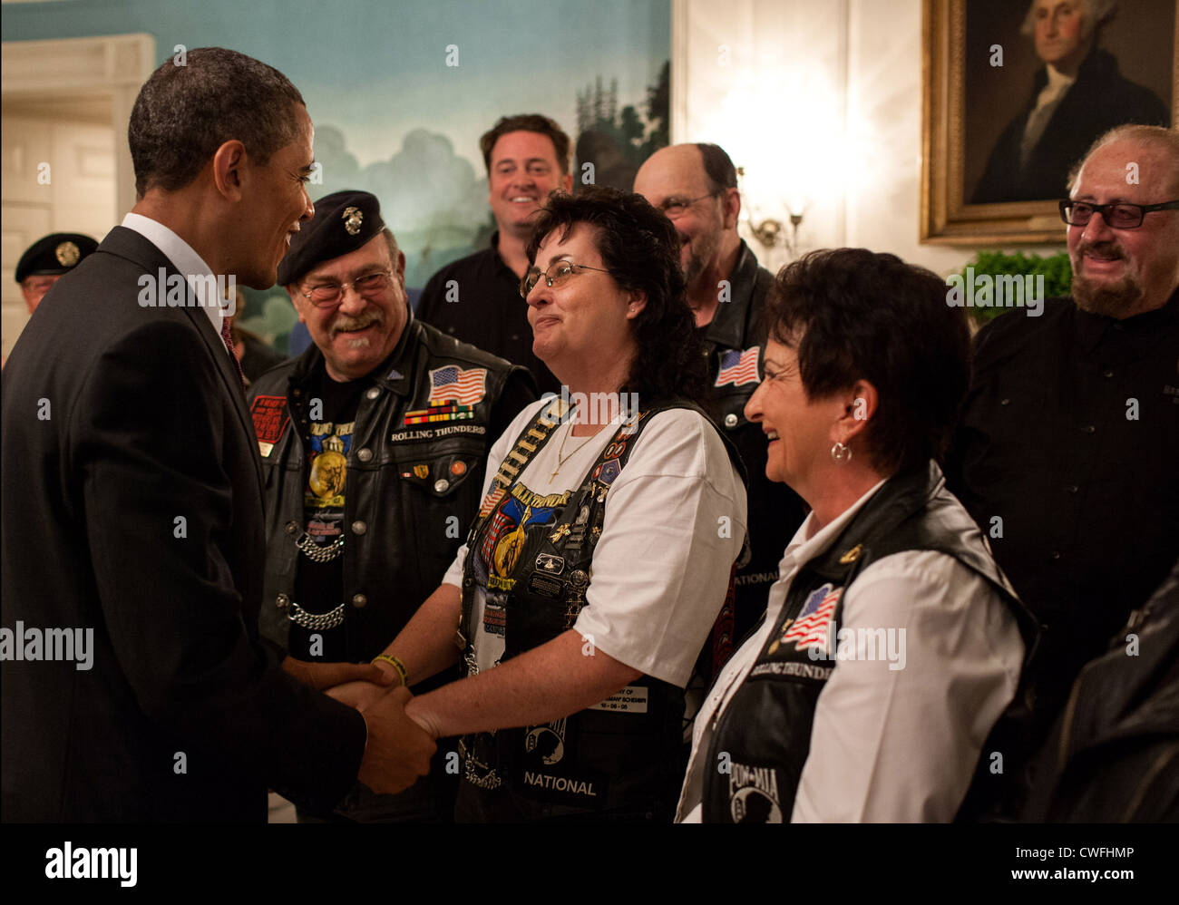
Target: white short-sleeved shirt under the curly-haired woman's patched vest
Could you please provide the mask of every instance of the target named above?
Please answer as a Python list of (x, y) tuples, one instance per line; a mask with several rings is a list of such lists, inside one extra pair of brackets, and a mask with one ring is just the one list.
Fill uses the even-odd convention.
[[(546, 404), (527, 407), (492, 447), (485, 496), (516, 437)], [(588, 438), (572, 436), (572, 427), (571, 418), (556, 428), (516, 483), (541, 496), (580, 487), (619, 425)], [(671, 409), (651, 416), (606, 497), (574, 629), (608, 656), (685, 686), (724, 602), (745, 536), (745, 506), (740, 477), (702, 415)], [(462, 587), (466, 556), (463, 544), (443, 583)], [(475, 660), (485, 671), (500, 661), (503, 638), (485, 630), (482, 588), (475, 594)]]

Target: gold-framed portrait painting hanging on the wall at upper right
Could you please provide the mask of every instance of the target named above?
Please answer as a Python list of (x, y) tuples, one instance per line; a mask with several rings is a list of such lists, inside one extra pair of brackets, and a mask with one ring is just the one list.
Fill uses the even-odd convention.
[(921, 240), (1063, 242), (1104, 132), (1179, 118), (1179, 0), (924, 0)]

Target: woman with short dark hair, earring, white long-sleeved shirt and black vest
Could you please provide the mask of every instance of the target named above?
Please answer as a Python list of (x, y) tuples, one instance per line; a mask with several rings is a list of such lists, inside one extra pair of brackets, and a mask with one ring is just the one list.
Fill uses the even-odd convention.
[(936, 460), (967, 387), (946, 284), (893, 255), (783, 269), (745, 415), (811, 507), (696, 720), (678, 819), (950, 820), (1015, 693), (1017, 602)]

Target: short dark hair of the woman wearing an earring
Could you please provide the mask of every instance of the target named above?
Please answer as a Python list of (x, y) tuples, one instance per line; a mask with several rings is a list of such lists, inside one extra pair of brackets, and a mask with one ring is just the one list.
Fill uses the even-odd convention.
[(880, 395), (868, 423), (882, 474), (941, 461), (969, 382), (966, 311), (936, 273), (867, 249), (815, 251), (783, 267), (766, 299), (766, 335), (798, 352), (808, 398), (864, 379)]

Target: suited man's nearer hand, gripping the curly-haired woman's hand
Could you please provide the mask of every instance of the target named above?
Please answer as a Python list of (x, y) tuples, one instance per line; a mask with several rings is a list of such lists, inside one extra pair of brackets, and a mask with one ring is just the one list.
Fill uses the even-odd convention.
[(406, 715), (411, 696), (407, 688), (397, 687), (358, 708), (369, 734), (356, 778), (378, 794), (409, 788), (430, 771), (437, 746)]

